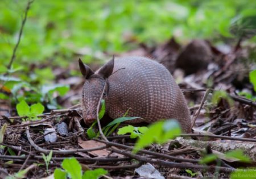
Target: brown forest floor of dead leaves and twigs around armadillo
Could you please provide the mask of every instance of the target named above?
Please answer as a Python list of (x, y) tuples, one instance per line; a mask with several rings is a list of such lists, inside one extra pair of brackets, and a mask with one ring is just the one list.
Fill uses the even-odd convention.
[[(57, 100), (66, 109), (48, 109), (37, 116), (39, 120), (25, 121), (29, 116), (14, 116), (15, 109), (11, 116), (10, 103), (1, 101), (0, 124), (8, 125), (0, 134), (4, 136), (0, 178), (10, 174), (13, 178), (53, 178), (56, 168), (68, 171), (62, 163), (68, 157), (75, 157), (80, 163), (75, 167), (82, 170), (108, 170), (108, 174), (102, 173), (106, 178), (229, 178), (232, 172), (233, 178), (236, 174), (255, 178), (256, 102), (249, 76), (253, 66), (255, 69), (249, 60), (253, 48), (242, 41), (216, 47), (209, 41), (192, 40), (182, 46), (171, 38), (157, 47), (141, 44), (135, 51), (116, 55), (147, 56), (166, 66), (183, 90), (191, 112), (191, 134), (181, 134), (162, 145), (152, 144), (137, 154), (131, 152), (136, 140), (130, 135), (113, 131), (107, 138), (89, 139), (80, 105), (73, 106), (81, 98), (84, 80), (65, 75), (69, 69), (56, 68), (56, 84), (71, 86)], [(47, 142), (50, 135), (56, 139)]]

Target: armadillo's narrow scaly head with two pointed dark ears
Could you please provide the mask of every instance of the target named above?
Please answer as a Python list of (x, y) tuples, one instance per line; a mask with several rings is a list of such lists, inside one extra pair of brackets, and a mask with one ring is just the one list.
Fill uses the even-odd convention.
[[(92, 123), (97, 119), (97, 106), (101, 98), (102, 91), (106, 78), (108, 78), (114, 69), (114, 57), (106, 63), (97, 73), (94, 73), (89, 66), (82, 63), (79, 59), (79, 66), (82, 75), (85, 78), (85, 83), (82, 88), (82, 116), (86, 124)], [(104, 91), (104, 97), (107, 94)]]

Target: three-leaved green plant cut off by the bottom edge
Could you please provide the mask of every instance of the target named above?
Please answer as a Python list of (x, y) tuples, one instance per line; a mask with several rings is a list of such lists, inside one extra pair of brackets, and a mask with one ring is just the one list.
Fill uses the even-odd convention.
[(76, 158), (64, 159), (61, 164), (62, 169), (56, 168), (54, 171), (55, 179), (67, 178), (67, 175), (72, 179), (97, 179), (98, 177), (107, 174), (108, 172), (102, 168), (87, 170), (82, 174), (82, 167)]

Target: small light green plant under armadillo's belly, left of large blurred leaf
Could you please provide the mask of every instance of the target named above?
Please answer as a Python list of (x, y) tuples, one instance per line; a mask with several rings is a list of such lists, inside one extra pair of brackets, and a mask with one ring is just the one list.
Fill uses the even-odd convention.
[(137, 137), (141, 137), (146, 131), (148, 130), (147, 127), (134, 127), (134, 126), (125, 126), (118, 129), (118, 135), (124, 135), (130, 133), (130, 138), (134, 139)]

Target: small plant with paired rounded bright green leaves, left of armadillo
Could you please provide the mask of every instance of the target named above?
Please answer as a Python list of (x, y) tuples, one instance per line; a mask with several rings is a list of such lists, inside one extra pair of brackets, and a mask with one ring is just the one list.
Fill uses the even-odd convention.
[(36, 120), (38, 119), (37, 115), (43, 113), (44, 106), (41, 103), (28, 106), (27, 102), (23, 100), (16, 105), (16, 110), (19, 116), (27, 116), (29, 120)]

